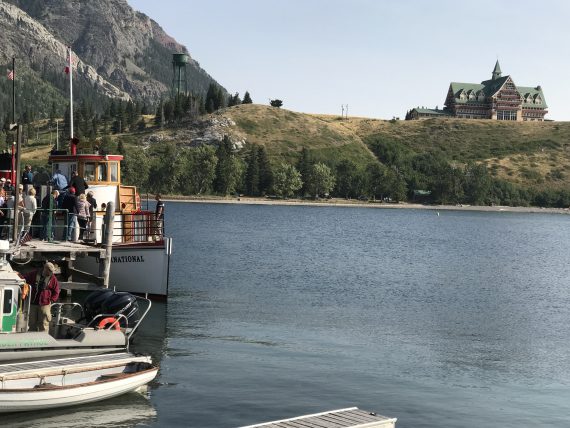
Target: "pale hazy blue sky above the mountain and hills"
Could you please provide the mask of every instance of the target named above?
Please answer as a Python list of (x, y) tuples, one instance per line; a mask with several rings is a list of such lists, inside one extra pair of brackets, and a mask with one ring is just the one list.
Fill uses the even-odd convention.
[(567, 0), (128, 0), (229, 92), (283, 108), (403, 118), (499, 59), (570, 120)]

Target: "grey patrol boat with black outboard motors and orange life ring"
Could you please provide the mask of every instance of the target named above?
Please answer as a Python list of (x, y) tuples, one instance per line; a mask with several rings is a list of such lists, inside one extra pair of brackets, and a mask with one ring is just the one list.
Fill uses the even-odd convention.
[(148, 299), (101, 289), (83, 305), (52, 304), (49, 331), (29, 331), (31, 299), (23, 286), (24, 280), (0, 257), (0, 363), (126, 352), (151, 307)]

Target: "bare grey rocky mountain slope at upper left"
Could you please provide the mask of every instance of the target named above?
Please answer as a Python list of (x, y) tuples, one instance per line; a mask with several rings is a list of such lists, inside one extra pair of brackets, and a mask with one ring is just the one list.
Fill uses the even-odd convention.
[[(77, 55), (78, 77), (98, 92), (155, 101), (168, 91), (172, 53), (187, 49), (126, 0), (9, 0), (0, 2), (0, 64), (17, 58), (45, 78), (63, 73), (66, 46)], [(204, 94), (213, 81), (188, 64), (189, 86)]]

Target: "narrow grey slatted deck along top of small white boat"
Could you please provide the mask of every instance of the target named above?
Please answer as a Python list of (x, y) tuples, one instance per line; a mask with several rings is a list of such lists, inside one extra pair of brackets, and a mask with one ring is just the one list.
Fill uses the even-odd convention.
[(49, 369), (63, 369), (65, 367), (83, 367), (108, 363), (126, 363), (131, 361), (147, 361), (148, 357), (139, 357), (128, 352), (116, 354), (89, 355), (85, 357), (54, 358), (0, 365), (0, 379), (14, 373), (29, 371), (42, 371)]

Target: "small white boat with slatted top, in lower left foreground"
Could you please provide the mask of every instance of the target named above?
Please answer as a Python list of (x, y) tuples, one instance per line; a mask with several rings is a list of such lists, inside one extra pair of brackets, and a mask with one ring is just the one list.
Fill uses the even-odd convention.
[(135, 391), (158, 367), (129, 353), (0, 365), (0, 413), (76, 406)]

